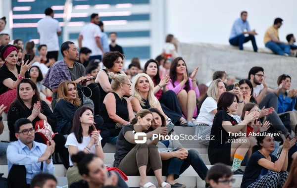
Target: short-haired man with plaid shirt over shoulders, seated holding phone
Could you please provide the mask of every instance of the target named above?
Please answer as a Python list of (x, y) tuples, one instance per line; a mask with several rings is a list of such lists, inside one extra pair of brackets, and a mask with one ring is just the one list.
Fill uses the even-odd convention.
[[(73, 42), (67, 41), (61, 45), (61, 53), (63, 55), (63, 60), (53, 64), (49, 71), (47, 72), (42, 84), (49, 88), (52, 93), (51, 107), (54, 108), (57, 100), (58, 86), (61, 82), (65, 80), (73, 81), (77, 83), (78, 95), (81, 100), (83, 100), (83, 95), (81, 93), (81, 85), (85, 85), (87, 81), (91, 80), (89, 76), (86, 76), (85, 67), (83, 64), (78, 63), (78, 48)], [(86, 96), (90, 96), (95, 104), (95, 114), (99, 114), (99, 109), (97, 109), (97, 100), (99, 97), (99, 87), (97, 84), (89, 84), (88, 88), (90, 90), (84, 90)], [(82, 101), (83, 102), (83, 101)], [(83, 104), (83, 103), (82, 103)], [(98, 101), (99, 108), (99, 101)]]

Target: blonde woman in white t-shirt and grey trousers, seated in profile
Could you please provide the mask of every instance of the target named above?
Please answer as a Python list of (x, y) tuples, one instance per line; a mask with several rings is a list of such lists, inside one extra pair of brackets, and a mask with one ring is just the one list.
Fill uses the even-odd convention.
[[(207, 95), (208, 97), (203, 101), (200, 112), (196, 119), (197, 125), (195, 129), (195, 135), (198, 136), (198, 143), (203, 145), (209, 144), (210, 131), (212, 127), (212, 122), (217, 110), (217, 102), (221, 94), (226, 92), (225, 85), (221, 79), (216, 79), (211, 82), (209, 85)], [(243, 103), (243, 94), (239, 89), (232, 90), (234, 94), (237, 94), (239, 97), (239, 105), (237, 111), (234, 115), (241, 115), (244, 103)]]

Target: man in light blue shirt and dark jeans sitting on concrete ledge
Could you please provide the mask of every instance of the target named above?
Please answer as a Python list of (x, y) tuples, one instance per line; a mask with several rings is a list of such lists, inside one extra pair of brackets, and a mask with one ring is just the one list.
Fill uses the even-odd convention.
[[(246, 37), (245, 34), (248, 34)], [(244, 49), (244, 43), (251, 41), (253, 50), (258, 50), (255, 35), (258, 35), (255, 30), (250, 31), (249, 23), (247, 21), (247, 11), (242, 11), (240, 18), (235, 20), (231, 34), (229, 37), (229, 43), (233, 46), (239, 46), (240, 50)]]

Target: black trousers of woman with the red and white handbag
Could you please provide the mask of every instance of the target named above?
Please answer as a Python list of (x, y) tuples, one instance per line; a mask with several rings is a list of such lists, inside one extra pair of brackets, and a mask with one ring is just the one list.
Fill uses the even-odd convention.
[[(54, 152), (60, 155), (62, 163), (66, 169), (69, 168), (69, 152), (68, 149), (65, 147), (66, 139), (62, 134), (56, 134), (53, 139), (55, 142)], [(35, 134), (34, 141), (43, 143), (42, 137), (39, 134)]]

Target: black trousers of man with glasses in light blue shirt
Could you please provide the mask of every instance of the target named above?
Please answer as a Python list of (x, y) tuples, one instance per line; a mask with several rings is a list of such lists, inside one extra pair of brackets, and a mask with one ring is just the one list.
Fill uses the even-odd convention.
[(10, 188), (30, 188), (26, 175), (27, 171), (24, 165), (12, 165), (7, 177)]

